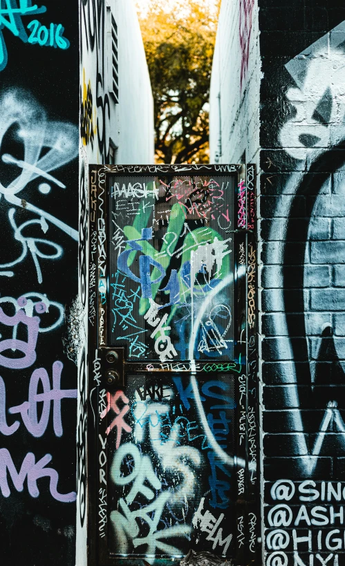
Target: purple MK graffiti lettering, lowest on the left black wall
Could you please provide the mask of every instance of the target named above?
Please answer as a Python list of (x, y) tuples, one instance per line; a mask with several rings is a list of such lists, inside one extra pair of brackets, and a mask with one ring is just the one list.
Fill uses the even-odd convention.
[(54, 499), (63, 503), (75, 501), (77, 498), (75, 491), (71, 491), (71, 493), (66, 494), (62, 494), (57, 491), (59, 474), (53, 468), (46, 468), (46, 464), (48, 464), (50, 460), (52, 460), (52, 456), (50, 454), (46, 454), (41, 458), (41, 460), (35, 462), (35, 455), (28, 452), (18, 473), (9, 451), (6, 448), (0, 449), (0, 489), (3, 497), (9, 497), (11, 494), (10, 488), (8, 487), (7, 472), (9, 472), (12, 483), (17, 491), (23, 491), (24, 481), (27, 478), (28, 492), (31, 497), (36, 498), (39, 496), (37, 480), (47, 476), (50, 478), (49, 488)]

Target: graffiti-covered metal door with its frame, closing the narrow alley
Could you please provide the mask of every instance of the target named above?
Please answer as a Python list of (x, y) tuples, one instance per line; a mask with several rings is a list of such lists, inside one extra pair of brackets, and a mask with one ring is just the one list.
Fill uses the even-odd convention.
[(91, 166), (88, 501), (100, 566), (257, 542), (254, 166)]

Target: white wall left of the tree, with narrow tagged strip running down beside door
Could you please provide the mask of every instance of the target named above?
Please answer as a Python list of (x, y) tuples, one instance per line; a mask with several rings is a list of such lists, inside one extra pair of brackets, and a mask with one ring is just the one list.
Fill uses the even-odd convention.
[[(93, 12), (97, 6), (99, 14)], [(111, 14), (118, 27), (119, 101), (111, 97)], [(154, 162), (153, 97), (134, 0), (80, 0), (80, 285), (84, 316), (80, 337), (87, 341), (88, 305), (88, 165), (109, 164), (109, 147), (115, 146), (115, 164)], [(87, 487), (84, 482), (87, 446), (80, 439), (86, 426), (87, 366), (79, 360), (77, 566), (87, 564)]]

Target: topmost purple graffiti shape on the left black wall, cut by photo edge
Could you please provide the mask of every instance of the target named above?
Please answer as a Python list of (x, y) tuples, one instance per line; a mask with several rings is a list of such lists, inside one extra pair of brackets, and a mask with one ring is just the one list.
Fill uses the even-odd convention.
[(0, 352), (12, 350), (22, 352), (24, 357), (8, 357), (0, 353), (0, 366), (11, 368), (12, 370), (24, 369), (32, 366), (36, 359), (36, 344), (39, 333), (39, 317), (27, 317), (24, 310), (19, 310), (13, 317), (8, 317), (0, 308), (0, 323), (6, 326), (16, 327), (23, 323), (28, 328), (28, 341), (17, 338), (9, 338), (0, 341)]

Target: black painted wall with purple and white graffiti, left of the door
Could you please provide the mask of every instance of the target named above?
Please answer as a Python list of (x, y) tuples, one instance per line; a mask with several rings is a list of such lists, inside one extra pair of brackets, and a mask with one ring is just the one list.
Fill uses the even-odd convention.
[[(12, 5), (19, 8), (25, 2), (15, 0)], [(28, 2), (30, 3), (30, 2)], [(21, 17), (15, 15), (15, 23), (20, 31), (20, 22), (30, 36), (31, 30), (26, 26), (37, 19), (50, 31), (50, 23), (64, 26), (63, 37), (70, 42), (66, 49), (53, 46), (30, 44), (23, 33), (15, 37), (14, 33), (3, 28), (3, 18), (9, 18), (4, 12), (5, 2), (0, 3), (0, 23), (3, 41), (8, 51), (8, 62), (0, 71), (0, 189), (8, 187), (23, 170), (22, 164), (3, 162), (3, 154), (10, 154), (16, 160), (34, 164), (53, 176), (66, 188), (57, 186), (54, 180), (38, 174), (36, 178), (28, 178), (19, 185), (17, 198), (8, 202), (4, 196), (0, 201), (1, 238), (0, 238), (0, 272), (12, 272), (12, 276), (0, 276), (0, 476), (6, 473), (6, 464), (15, 465), (17, 473), (21, 470), (23, 477), (17, 478), (15, 469), (7, 469), (8, 490), (6, 481), (0, 480), (0, 541), (1, 564), (22, 564), (25, 566), (73, 565), (75, 563), (75, 476), (76, 476), (76, 413), (77, 413), (77, 343), (73, 339), (71, 323), (77, 318), (77, 232), (62, 229), (54, 220), (46, 216), (52, 215), (68, 227), (78, 229), (78, 116), (79, 116), (79, 38), (78, 38), (78, 3), (69, 0), (46, 0), (46, 12), (38, 15), (30, 14)], [(41, 3), (39, 3), (39, 7)], [(1, 13), (2, 12), (2, 13)], [(37, 28), (38, 30), (38, 28)], [(60, 33), (60, 35), (62, 35)], [(45, 32), (41, 32), (43, 41)], [(48, 41), (50, 37), (48, 38)], [(62, 46), (66, 46), (62, 40)], [(10, 121), (9, 121), (10, 120)], [(24, 155), (24, 147), (26, 153)], [(37, 164), (39, 156), (46, 154), (46, 159)], [(51, 168), (51, 170), (50, 170)], [(24, 167), (24, 171), (26, 171)], [(38, 171), (39, 173), (39, 171)], [(42, 185), (43, 184), (43, 185)], [(45, 185), (44, 185), (45, 184)], [(39, 186), (41, 185), (41, 190)], [(48, 187), (49, 185), (49, 187)], [(20, 189), (20, 190), (19, 190)], [(43, 191), (43, 192), (42, 192)], [(11, 200), (11, 199), (10, 199)], [(38, 207), (44, 213), (30, 210), (30, 205)], [(32, 220), (35, 223), (26, 225), (22, 231), (15, 232), (10, 224), (10, 210), (17, 227)], [(39, 223), (41, 216), (45, 220)], [(68, 233), (66, 233), (69, 232)], [(72, 235), (71, 235), (72, 234)], [(28, 239), (29, 238), (29, 239)], [(30, 239), (31, 238), (31, 239)], [(48, 240), (51, 244), (41, 240)], [(39, 255), (37, 255), (39, 249)], [(26, 253), (24, 253), (26, 250)], [(8, 265), (20, 258), (15, 265)], [(55, 256), (44, 258), (42, 255)], [(37, 265), (35, 265), (35, 262)], [(39, 267), (38, 267), (39, 265)], [(41, 270), (41, 283), (39, 282)], [(30, 294), (26, 299), (39, 302), (39, 312), (30, 312), (30, 302), (24, 305), (16, 303), (19, 297)], [(35, 296), (34, 294), (41, 294)], [(46, 295), (46, 299), (44, 297)], [(5, 297), (12, 297), (12, 302), (1, 303)], [(42, 306), (41, 303), (46, 303)], [(54, 301), (60, 308), (51, 305)], [(74, 301), (74, 302), (73, 302)], [(21, 313), (22, 321), (17, 330), (17, 340), (28, 341), (26, 321), (33, 316), (40, 319), (39, 328), (55, 325), (62, 313), (62, 321), (48, 332), (39, 332), (37, 343), (35, 337), (30, 352), (32, 357), (24, 359), (24, 354), (11, 350), (14, 344), (1, 341), (11, 339), (14, 321), (6, 319)], [(24, 316), (26, 308), (26, 314)], [(49, 312), (42, 312), (47, 307)], [(26, 318), (28, 317), (28, 318)], [(74, 317), (74, 319), (73, 319)], [(30, 323), (30, 322), (29, 322)], [(12, 326), (11, 326), (12, 325)], [(30, 327), (34, 333), (34, 328)], [(69, 329), (69, 330), (68, 330)], [(30, 330), (30, 332), (31, 332)], [(33, 335), (33, 334), (32, 334)], [(5, 346), (7, 346), (5, 350)], [(26, 346), (22, 346), (26, 350)], [(24, 361), (18, 361), (19, 357)], [(12, 361), (11, 361), (12, 360)], [(14, 361), (17, 360), (17, 361)], [(59, 362), (59, 363), (57, 363)], [(44, 372), (32, 373), (39, 368), (48, 372), (50, 388), (53, 387), (53, 364), (55, 377), (61, 373), (61, 389), (70, 390), (71, 398), (61, 401), (62, 431), (59, 429), (59, 402), (46, 401), (50, 412), (45, 424), (44, 404), (38, 402), (38, 418), (42, 419), (41, 430), (32, 428), (35, 420), (34, 408), (22, 407), (21, 413), (10, 414), (8, 409), (20, 406), (28, 401), (29, 385), (33, 388), (34, 379)], [(47, 382), (48, 383), (48, 382)], [(46, 384), (47, 392), (49, 390)], [(55, 388), (57, 385), (55, 384)], [(6, 390), (6, 405), (4, 393)], [(42, 392), (39, 384), (38, 393)], [(48, 399), (49, 393), (46, 392)], [(35, 395), (33, 390), (32, 395)], [(57, 394), (58, 395), (58, 394)], [(33, 397), (31, 397), (33, 401)], [(55, 421), (53, 406), (55, 404)], [(35, 404), (34, 404), (35, 406)], [(32, 407), (32, 405), (31, 405)], [(28, 427), (22, 415), (27, 414)], [(7, 427), (15, 426), (10, 430)], [(31, 425), (30, 425), (31, 422)], [(55, 424), (55, 428), (54, 428)], [(15, 430), (17, 428), (17, 430)], [(35, 436), (36, 435), (36, 436)], [(39, 436), (38, 436), (39, 435)], [(30, 454), (34, 456), (30, 456)], [(28, 456), (29, 454), (29, 456)], [(48, 477), (37, 480), (32, 471), (32, 460), (41, 460), (46, 455), (45, 468)], [(24, 459), (26, 458), (25, 462)], [(23, 464), (24, 462), (24, 464)], [(22, 465), (23, 464), (23, 465)], [(44, 467), (42, 462), (41, 468)], [(43, 475), (36, 466), (37, 475)], [(70, 494), (62, 502), (54, 491), (56, 475), (59, 475), (57, 492)], [(25, 478), (26, 472), (29, 476)], [(36, 475), (36, 476), (37, 476)], [(25, 480), (24, 480), (25, 478)], [(24, 480), (24, 481), (23, 481)], [(21, 484), (23, 484), (22, 491)], [(29, 488), (31, 494), (29, 493)], [(8, 491), (10, 493), (8, 493)], [(52, 495), (52, 492), (55, 497)]]

